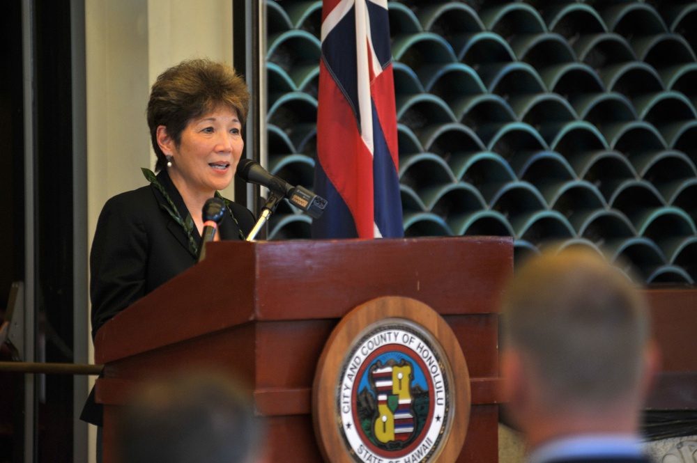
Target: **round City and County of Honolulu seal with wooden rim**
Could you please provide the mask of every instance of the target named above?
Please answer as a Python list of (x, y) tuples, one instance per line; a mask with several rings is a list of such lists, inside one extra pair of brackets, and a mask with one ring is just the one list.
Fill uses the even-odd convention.
[(330, 336), (312, 407), (327, 461), (454, 462), (469, 418), (467, 364), (429, 306), (375, 299), (348, 313)]

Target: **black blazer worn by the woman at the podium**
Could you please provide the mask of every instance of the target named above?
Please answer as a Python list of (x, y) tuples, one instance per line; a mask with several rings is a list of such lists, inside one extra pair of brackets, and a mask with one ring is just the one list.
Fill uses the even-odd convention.
[[(187, 217), (167, 171), (157, 177), (181, 217)], [(90, 253), (92, 338), (114, 315), (196, 263), (189, 237), (168, 209), (171, 205), (154, 185), (118, 194), (102, 208)], [(229, 211), (218, 225), (220, 239), (244, 240), (254, 228), (254, 215), (232, 202)], [(192, 240), (201, 241), (195, 226)], [(93, 392), (81, 418), (101, 424), (101, 407), (93, 402)]]

